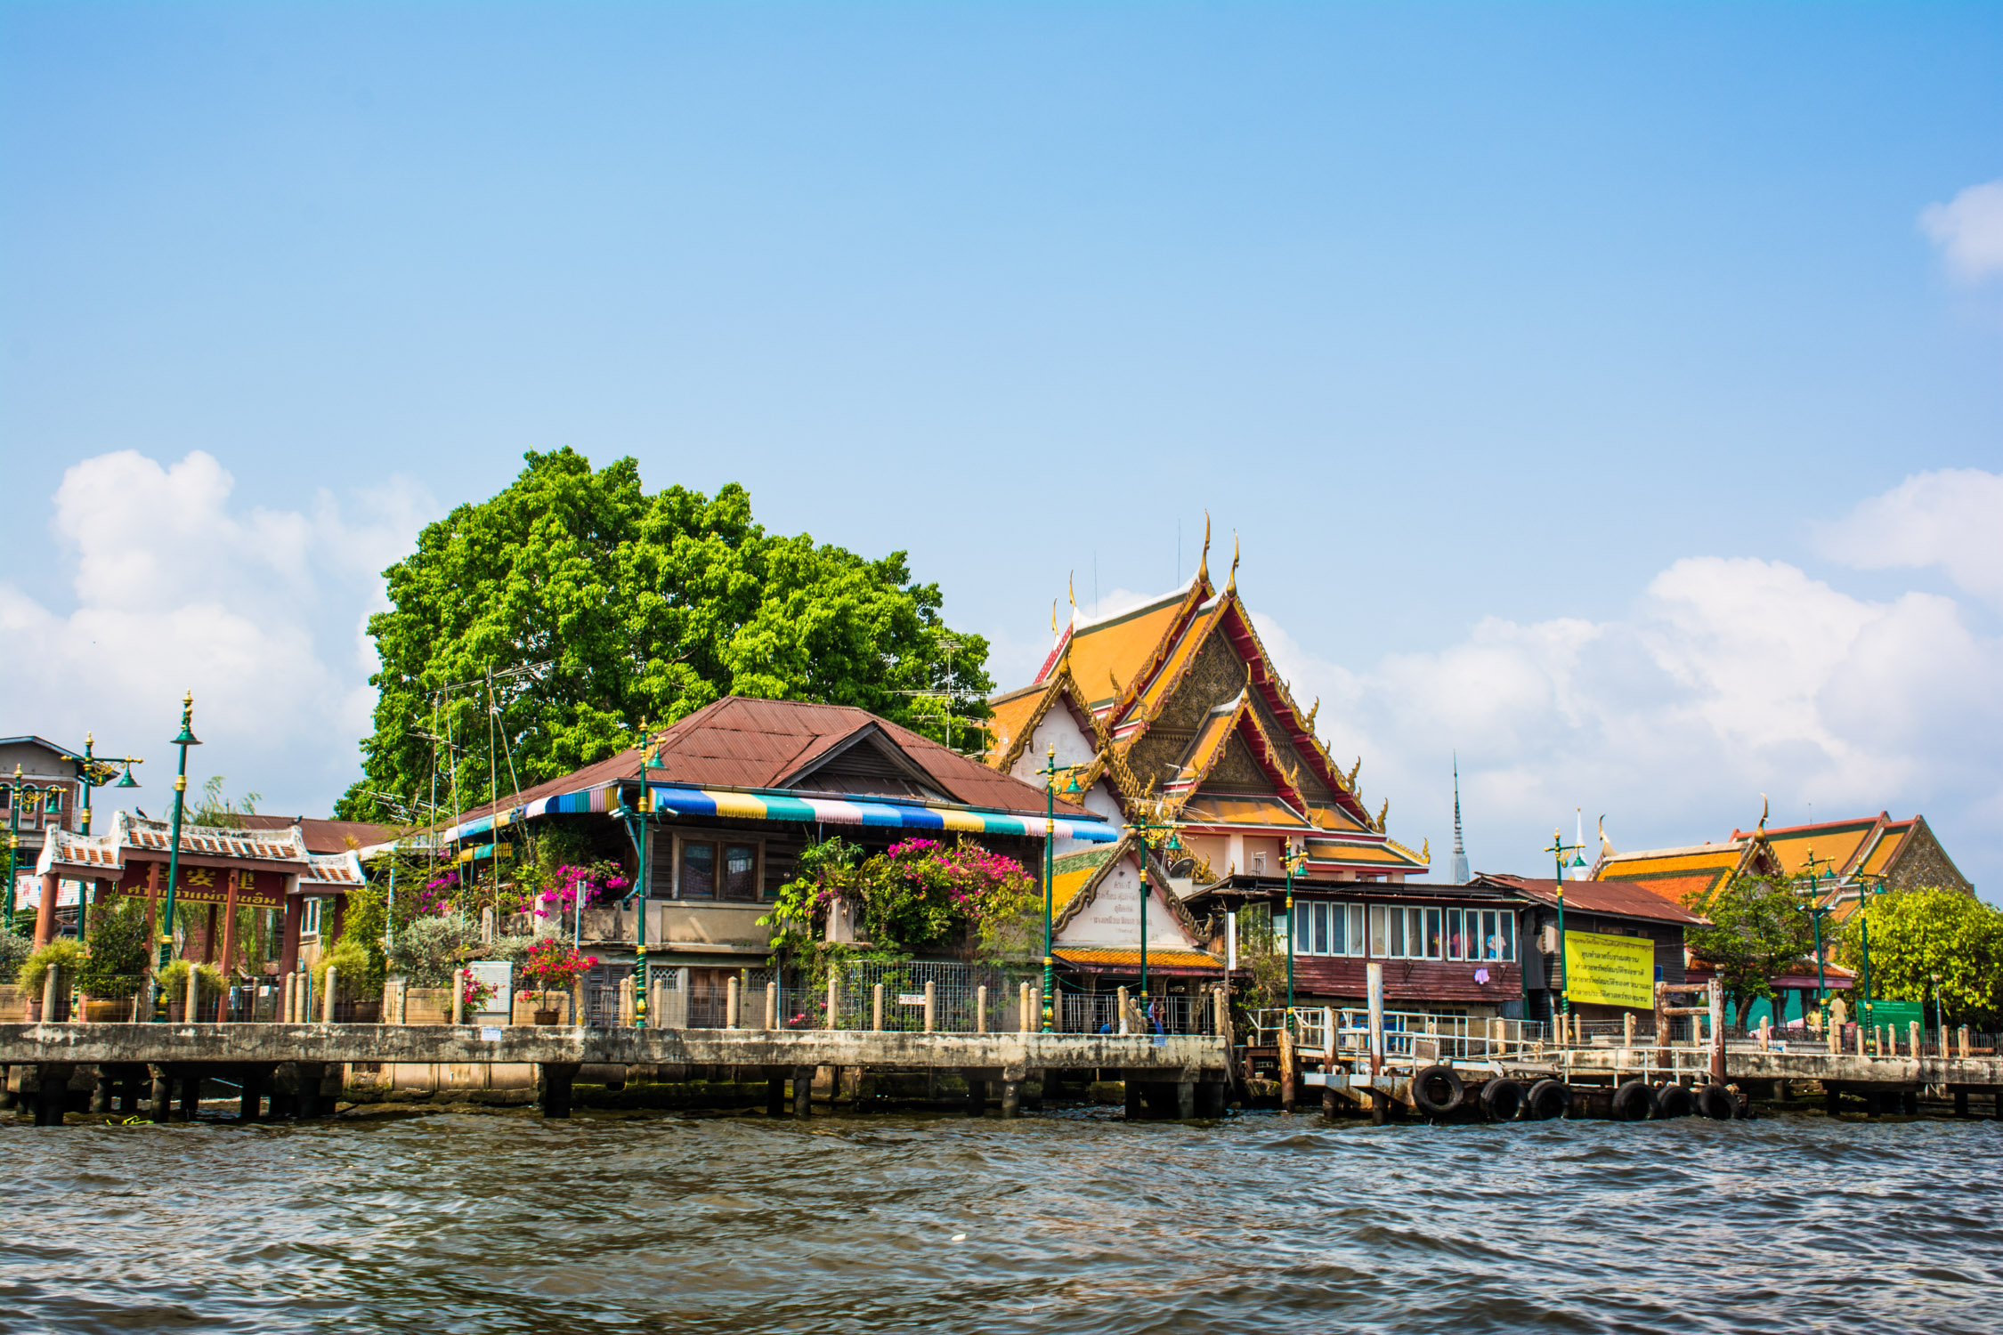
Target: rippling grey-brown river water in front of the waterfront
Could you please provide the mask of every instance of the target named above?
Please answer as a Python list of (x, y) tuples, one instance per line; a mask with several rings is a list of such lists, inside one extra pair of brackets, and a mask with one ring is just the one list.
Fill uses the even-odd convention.
[(2003, 1329), (2003, 1123), (0, 1127), (6, 1331)]

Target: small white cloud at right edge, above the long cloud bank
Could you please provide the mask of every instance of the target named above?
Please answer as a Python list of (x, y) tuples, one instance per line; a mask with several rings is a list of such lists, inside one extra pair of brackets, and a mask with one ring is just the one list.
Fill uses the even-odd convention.
[(1821, 526), (1817, 546), (1859, 570), (1939, 566), (2003, 610), (2003, 472), (1919, 472)]

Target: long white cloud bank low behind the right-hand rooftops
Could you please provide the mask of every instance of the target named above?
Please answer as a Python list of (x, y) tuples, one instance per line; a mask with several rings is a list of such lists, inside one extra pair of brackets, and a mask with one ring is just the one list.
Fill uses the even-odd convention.
[[(1584, 807), (1622, 847), (1723, 839), (1759, 819), (1925, 811), (1991, 893), (2003, 861), (2003, 640), (1945, 596), (1855, 598), (1773, 560), (1689, 558), (1618, 620), (1486, 618), (1436, 652), (1348, 671), (1270, 616), (1260, 634), (1322, 735), (1362, 753), (1370, 807), (1444, 855), (1460, 753), (1478, 869), (1536, 871)], [(1436, 863), (1444, 871), (1444, 861)], [(1985, 875), (1987, 869), (1987, 875)]]

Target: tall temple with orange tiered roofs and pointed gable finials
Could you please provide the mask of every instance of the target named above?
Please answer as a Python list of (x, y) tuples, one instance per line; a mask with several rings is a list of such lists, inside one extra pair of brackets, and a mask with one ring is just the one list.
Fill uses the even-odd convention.
[[(1146, 815), (1180, 843), (1174, 889), (1270, 877), (1288, 855), (1320, 881), (1402, 883), (1426, 849), (1386, 833), (1390, 805), (1364, 803), (1358, 757), (1344, 771), (1314, 733), (1252, 628), (1238, 558), (1210, 580), (1208, 534), (1180, 588), (1114, 616), (1052, 626), (1036, 681), (989, 701), (987, 763), (1110, 821)], [(1060, 845), (1062, 849), (1062, 845)]]

